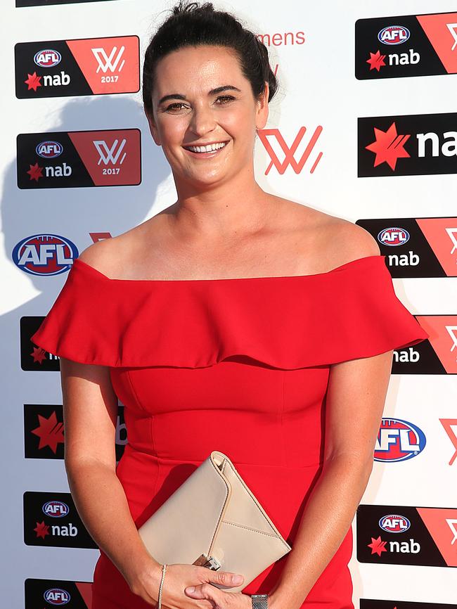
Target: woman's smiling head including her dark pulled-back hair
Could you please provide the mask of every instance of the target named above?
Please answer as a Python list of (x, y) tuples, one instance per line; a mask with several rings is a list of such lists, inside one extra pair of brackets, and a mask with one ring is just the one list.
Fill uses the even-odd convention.
[(174, 8), (145, 53), (143, 103), (179, 193), (190, 186), (181, 177), (194, 186), (251, 179), (256, 130), (276, 89), (254, 33), (210, 4)]

